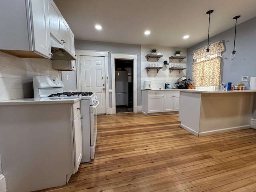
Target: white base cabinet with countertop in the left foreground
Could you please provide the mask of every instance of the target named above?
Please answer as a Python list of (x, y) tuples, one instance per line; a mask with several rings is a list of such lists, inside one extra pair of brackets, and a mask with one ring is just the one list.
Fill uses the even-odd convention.
[(7, 191), (68, 183), (82, 159), (80, 98), (0, 102), (0, 151)]

